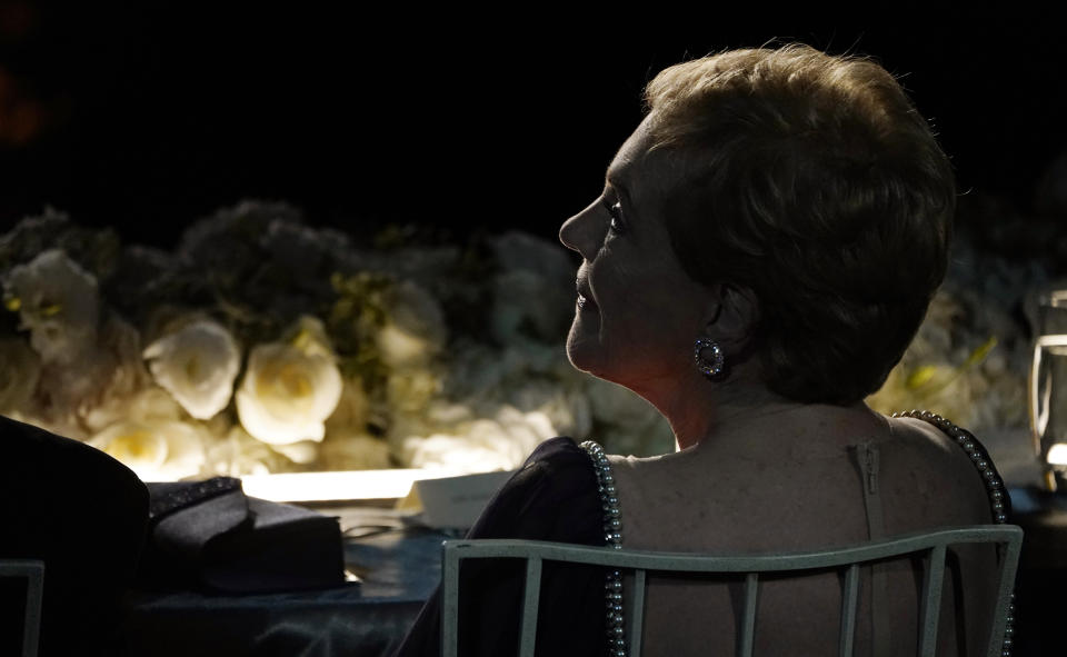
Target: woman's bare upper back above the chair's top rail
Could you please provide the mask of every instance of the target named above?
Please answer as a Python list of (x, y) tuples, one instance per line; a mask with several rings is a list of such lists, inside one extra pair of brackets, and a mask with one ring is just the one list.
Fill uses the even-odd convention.
[(628, 542), (751, 551), (865, 540), (855, 450), (861, 442), (878, 448), (887, 534), (991, 521), (983, 478), (953, 438), (921, 420), (879, 419), (857, 430), (775, 437), (765, 441), (774, 446), (767, 450), (709, 445), (652, 458), (610, 457)]

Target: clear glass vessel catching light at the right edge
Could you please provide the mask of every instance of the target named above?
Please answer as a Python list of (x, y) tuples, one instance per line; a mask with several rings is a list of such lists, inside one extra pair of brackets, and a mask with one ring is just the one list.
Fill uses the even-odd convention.
[(1038, 298), (1030, 366), (1030, 428), (1049, 490), (1067, 486), (1067, 290)]

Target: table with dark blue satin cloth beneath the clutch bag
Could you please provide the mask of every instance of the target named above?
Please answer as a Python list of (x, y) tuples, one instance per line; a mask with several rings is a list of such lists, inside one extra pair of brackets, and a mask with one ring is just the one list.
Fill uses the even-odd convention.
[(134, 593), (126, 624), (130, 655), (389, 655), (433, 593), (449, 535), (406, 527), (381, 509), (330, 515), (341, 518), (346, 566), (362, 581), (272, 595)]

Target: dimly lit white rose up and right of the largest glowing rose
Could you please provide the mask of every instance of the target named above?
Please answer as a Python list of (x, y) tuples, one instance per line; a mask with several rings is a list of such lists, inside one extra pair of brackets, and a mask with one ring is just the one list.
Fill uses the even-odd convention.
[(385, 299), (389, 319), (378, 331), (378, 351), (389, 367), (429, 362), (445, 346), (445, 315), (429, 292), (412, 282), (392, 287)]

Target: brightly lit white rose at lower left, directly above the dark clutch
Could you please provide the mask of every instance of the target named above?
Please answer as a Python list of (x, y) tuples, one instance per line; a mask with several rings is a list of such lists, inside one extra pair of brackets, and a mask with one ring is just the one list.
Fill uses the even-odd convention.
[(89, 439), (143, 481), (173, 481), (200, 474), (205, 464), (203, 430), (177, 420), (118, 421)]

